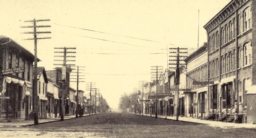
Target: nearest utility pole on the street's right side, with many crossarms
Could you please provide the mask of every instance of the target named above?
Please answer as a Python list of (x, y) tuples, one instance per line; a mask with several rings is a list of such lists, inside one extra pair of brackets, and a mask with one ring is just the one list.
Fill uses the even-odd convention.
[(176, 78), (175, 78), (175, 86), (176, 86), (176, 90), (177, 90), (177, 95), (176, 96), (176, 100), (177, 100), (177, 105), (176, 105), (176, 121), (179, 120), (179, 85), (180, 85), (180, 65), (186, 65), (186, 63), (180, 63), (180, 61), (184, 61), (181, 60), (180, 58), (186, 58), (186, 55), (180, 55), (182, 53), (188, 53), (188, 52), (181, 52), (180, 50), (187, 50), (187, 48), (169, 48), (169, 49), (174, 49), (177, 51), (172, 51), (169, 53), (177, 53), (177, 55), (170, 55), (169, 57), (175, 57), (177, 58), (176, 60), (172, 60), (170, 59), (169, 61), (175, 61), (176, 63), (169, 63), (169, 65), (176, 65), (176, 67), (169, 67), (170, 69), (176, 69)]

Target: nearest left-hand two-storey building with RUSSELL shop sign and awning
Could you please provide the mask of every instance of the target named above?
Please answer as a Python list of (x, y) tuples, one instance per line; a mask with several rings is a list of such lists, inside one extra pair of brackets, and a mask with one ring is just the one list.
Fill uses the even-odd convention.
[(0, 36), (0, 69), (3, 70), (0, 74), (2, 119), (29, 119), (32, 112), (33, 61), (34, 55), (31, 52), (9, 37)]

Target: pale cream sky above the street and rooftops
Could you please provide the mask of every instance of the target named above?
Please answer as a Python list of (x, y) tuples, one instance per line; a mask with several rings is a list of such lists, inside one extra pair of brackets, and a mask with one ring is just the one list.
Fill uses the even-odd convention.
[[(52, 70), (54, 47), (76, 47), (75, 64), (86, 66), (84, 72), (90, 73), (83, 77), (86, 78), (85, 81), (96, 82), (96, 87), (100, 89), (108, 104), (117, 108), (119, 98), (124, 92), (133, 92), (133, 88), (138, 87), (139, 80), (151, 80), (150, 74), (147, 74), (151, 72), (150, 66), (167, 68), (166, 50), (161, 50), (166, 49), (167, 43), (197, 48), (198, 9), (201, 46), (207, 41), (203, 26), (229, 2), (230, 0), (0, 0), (0, 35), (12, 38), (34, 53), (34, 41), (22, 40), (32, 38), (32, 35), (20, 34), (32, 29), (21, 29), (20, 26), (32, 25), (24, 23), (24, 20), (50, 19), (49, 22), (40, 22), (41, 25), (52, 27), (39, 31), (51, 31), (52, 34), (39, 37), (49, 36), (52, 39), (38, 41), (38, 58), (42, 60), (38, 66)], [(90, 32), (56, 24), (159, 42)], [(76, 83), (70, 85), (76, 89)], [(81, 82), (79, 85), (79, 89), (85, 90), (85, 83)]]

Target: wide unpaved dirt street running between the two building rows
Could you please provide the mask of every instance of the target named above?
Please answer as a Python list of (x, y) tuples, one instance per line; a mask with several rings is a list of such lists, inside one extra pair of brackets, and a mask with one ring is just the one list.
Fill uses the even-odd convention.
[(256, 129), (223, 129), (148, 116), (106, 113), (38, 126), (0, 128), (0, 137), (67, 138), (169, 138), (169, 137), (256, 137)]

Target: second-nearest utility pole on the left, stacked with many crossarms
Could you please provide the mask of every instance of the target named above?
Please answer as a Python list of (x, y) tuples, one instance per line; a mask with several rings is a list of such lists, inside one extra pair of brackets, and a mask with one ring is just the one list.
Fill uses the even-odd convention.
[[(55, 47), (54, 49), (62, 49), (63, 51), (55, 51), (54, 53), (63, 53), (63, 55), (55, 55), (54, 57), (61, 57), (63, 60), (55, 59), (54, 61), (63, 61), (63, 63), (54, 63), (53, 65), (62, 66), (61, 69), (61, 81), (62, 81), (62, 87), (61, 87), (61, 121), (64, 121), (64, 96), (66, 92), (66, 86), (65, 82), (67, 80), (67, 66), (75, 66), (75, 64), (67, 64), (68, 61), (76, 61), (76, 60), (67, 60), (67, 58), (76, 58), (74, 55), (67, 55), (70, 53), (76, 53), (75, 51), (67, 51), (68, 49), (76, 49), (76, 47)], [(58, 80), (57, 80), (58, 81)], [(67, 80), (68, 83), (69, 80)]]

